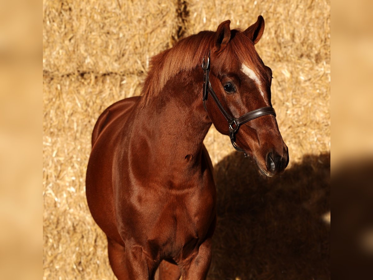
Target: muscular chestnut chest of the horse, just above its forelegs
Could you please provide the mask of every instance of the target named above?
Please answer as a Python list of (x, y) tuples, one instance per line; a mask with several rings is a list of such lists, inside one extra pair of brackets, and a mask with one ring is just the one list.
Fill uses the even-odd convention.
[(128, 211), (136, 214), (123, 215), (127, 238), (143, 237), (137, 242), (154, 254), (192, 250), (204, 240), (215, 217), (213, 194), (207, 190), (182, 194), (166, 192), (154, 199), (152, 190), (144, 193), (129, 203), (132, 206)]

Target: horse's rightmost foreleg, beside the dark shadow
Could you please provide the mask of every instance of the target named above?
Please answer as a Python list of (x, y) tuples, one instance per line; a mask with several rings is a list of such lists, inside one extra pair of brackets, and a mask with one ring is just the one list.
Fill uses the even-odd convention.
[(182, 264), (182, 279), (206, 279), (211, 264), (211, 238), (200, 245), (198, 253)]

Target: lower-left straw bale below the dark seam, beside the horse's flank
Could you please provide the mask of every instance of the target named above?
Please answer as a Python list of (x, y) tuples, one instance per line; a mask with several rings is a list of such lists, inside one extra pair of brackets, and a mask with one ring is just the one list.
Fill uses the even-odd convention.
[(141, 81), (136, 75), (43, 78), (45, 279), (113, 279), (106, 237), (89, 214), (85, 171), (100, 112), (140, 94)]

